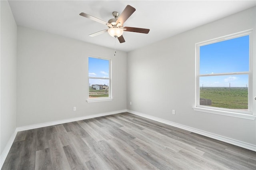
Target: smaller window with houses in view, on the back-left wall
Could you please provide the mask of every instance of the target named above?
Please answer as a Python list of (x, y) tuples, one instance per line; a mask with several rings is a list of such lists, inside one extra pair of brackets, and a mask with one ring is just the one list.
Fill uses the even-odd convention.
[(111, 60), (88, 57), (89, 94), (87, 102), (111, 99)]

